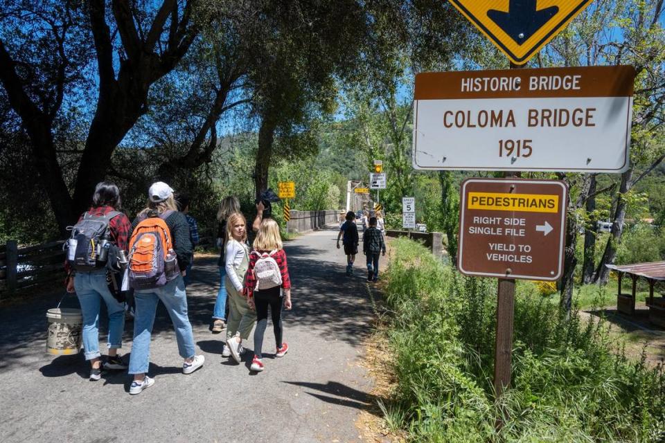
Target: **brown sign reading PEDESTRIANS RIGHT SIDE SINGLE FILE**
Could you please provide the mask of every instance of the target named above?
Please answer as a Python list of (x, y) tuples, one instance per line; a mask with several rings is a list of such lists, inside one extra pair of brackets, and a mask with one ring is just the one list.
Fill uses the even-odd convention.
[(558, 280), (567, 199), (563, 181), (463, 181), (457, 269), (479, 277)]

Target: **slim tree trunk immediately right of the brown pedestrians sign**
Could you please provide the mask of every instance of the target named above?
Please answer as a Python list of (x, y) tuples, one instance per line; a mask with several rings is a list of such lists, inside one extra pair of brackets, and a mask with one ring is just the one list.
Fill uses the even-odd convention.
[(570, 315), (573, 302), (573, 289), (575, 286), (575, 266), (577, 259), (575, 257), (575, 248), (577, 246), (577, 233), (580, 230), (580, 222), (576, 217), (578, 208), (581, 208), (589, 195), (589, 186), (593, 174), (585, 174), (584, 180), (580, 183), (580, 191), (575, 203), (572, 201), (568, 206), (568, 223), (566, 228), (566, 248), (563, 259), (563, 277), (561, 280), (561, 298), (560, 308), (566, 316)]

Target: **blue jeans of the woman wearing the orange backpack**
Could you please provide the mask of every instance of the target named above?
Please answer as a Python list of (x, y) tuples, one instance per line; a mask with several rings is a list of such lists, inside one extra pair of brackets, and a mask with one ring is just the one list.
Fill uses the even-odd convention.
[(132, 344), (128, 371), (130, 374), (148, 372), (150, 336), (159, 300), (163, 302), (173, 322), (180, 356), (183, 359), (189, 359), (195, 355), (192, 325), (187, 316), (185, 284), (180, 275), (161, 288), (135, 291), (134, 300), (136, 300), (136, 308), (134, 308), (134, 344)]

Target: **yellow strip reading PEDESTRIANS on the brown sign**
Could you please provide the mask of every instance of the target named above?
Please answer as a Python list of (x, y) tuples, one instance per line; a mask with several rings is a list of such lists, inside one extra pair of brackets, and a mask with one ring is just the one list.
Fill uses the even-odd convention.
[(558, 195), (469, 192), (468, 209), (515, 210), (524, 213), (557, 213)]

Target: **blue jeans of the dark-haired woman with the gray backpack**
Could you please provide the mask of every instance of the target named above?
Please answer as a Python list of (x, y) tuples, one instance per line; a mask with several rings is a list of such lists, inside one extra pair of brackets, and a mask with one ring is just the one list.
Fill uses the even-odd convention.
[(74, 275), (74, 289), (83, 314), (83, 350), (85, 359), (98, 358), (99, 352), (99, 309), (101, 300), (106, 303), (109, 313), (109, 349), (123, 347), (125, 329), (125, 306), (111, 295), (106, 283), (106, 269), (93, 272), (77, 272)]

